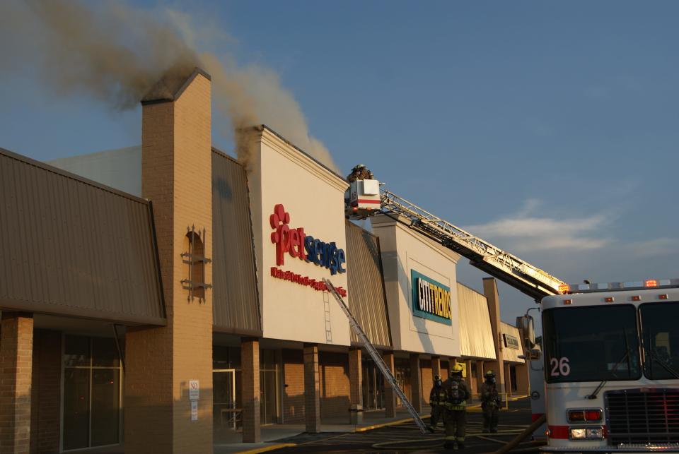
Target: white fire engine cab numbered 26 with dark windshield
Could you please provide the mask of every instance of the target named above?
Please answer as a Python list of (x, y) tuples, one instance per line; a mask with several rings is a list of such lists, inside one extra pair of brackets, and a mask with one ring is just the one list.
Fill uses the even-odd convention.
[(679, 452), (679, 279), (562, 290), (541, 303), (542, 450)]

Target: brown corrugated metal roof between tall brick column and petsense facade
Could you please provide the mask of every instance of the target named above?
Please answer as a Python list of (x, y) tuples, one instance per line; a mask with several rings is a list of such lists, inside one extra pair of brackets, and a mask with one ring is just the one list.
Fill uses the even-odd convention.
[(212, 152), (214, 329), (262, 335), (247, 175), (236, 160)]

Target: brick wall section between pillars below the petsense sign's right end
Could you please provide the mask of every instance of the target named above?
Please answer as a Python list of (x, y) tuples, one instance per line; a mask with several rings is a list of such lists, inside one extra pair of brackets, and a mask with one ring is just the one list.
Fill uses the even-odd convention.
[(320, 417), (349, 417), (349, 356), (320, 352)]

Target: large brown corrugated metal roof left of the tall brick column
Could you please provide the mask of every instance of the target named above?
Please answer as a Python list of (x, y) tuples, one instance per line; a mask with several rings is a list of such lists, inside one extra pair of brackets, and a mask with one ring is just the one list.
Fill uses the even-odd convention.
[(0, 307), (165, 323), (151, 203), (0, 148)]

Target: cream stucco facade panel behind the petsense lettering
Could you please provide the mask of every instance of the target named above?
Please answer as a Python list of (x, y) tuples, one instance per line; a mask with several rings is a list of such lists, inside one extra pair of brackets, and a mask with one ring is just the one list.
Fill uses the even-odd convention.
[[(335, 242), (346, 251), (344, 231), (344, 191), (347, 183), (308, 155), (301, 153), (269, 129), (258, 131), (254, 153), (248, 162), (248, 185), (253, 217), (253, 236), (257, 260), (264, 337), (272, 339), (349, 345), (349, 321), (337, 302), (324, 301), (324, 292), (308, 284), (272, 276), (272, 268), (298, 277), (321, 281), (329, 278), (335, 287), (347, 289), (346, 273), (331, 275), (330, 269), (283, 254), (277, 263), (276, 229), (270, 224), (274, 207), (282, 204), (289, 214), (289, 229), (304, 229), (325, 243)], [(277, 221), (279, 225), (281, 220)], [(347, 261), (351, 258), (347, 257)], [(346, 264), (342, 264), (345, 268)], [(345, 297), (349, 301), (351, 295)], [(330, 312), (326, 334), (326, 308)]]

